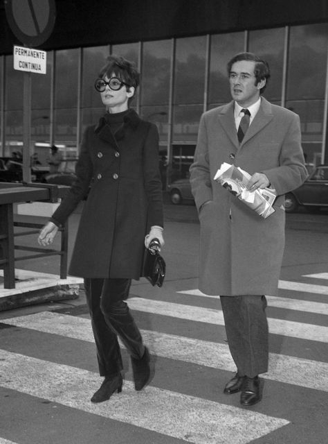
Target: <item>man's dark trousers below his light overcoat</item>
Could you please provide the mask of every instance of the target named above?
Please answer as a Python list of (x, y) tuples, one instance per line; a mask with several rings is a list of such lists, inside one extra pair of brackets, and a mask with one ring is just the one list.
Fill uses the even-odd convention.
[(220, 296), (230, 353), (239, 376), (268, 371), (268, 321), (265, 296)]

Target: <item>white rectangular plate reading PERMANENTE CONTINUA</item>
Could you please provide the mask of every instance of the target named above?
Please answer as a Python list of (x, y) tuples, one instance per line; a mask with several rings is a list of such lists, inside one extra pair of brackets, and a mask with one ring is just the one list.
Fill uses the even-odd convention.
[(46, 51), (14, 46), (14, 69), (46, 74)]

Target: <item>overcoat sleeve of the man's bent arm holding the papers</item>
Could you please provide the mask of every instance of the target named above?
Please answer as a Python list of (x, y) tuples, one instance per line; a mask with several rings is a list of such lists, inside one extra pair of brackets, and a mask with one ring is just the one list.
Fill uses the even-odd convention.
[(280, 166), (262, 171), (278, 196), (300, 187), (308, 176), (301, 145), (300, 118), (293, 112), (286, 114), (286, 118), (290, 124), (280, 150)]

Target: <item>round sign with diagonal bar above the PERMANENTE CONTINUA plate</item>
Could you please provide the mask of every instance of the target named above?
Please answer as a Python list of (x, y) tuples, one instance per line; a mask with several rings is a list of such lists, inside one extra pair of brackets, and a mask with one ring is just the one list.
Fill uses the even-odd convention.
[(53, 32), (55, 0), (5, 0), (12, 32), (26, 46), (39, 46)]

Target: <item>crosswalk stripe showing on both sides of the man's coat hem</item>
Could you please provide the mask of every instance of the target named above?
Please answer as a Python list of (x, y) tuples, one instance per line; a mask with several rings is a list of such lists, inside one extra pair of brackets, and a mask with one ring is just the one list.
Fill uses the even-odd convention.
[[(206, 298), (216, 298), (219, 296), (208, 296), (198, 289), (177, 291), (177, 293), (190, 294), (192, 296), (203, 296)], [(325, 302), (312, 302), (311, 300), (299, 300), (291, 298), (280, 298), (279, 296), (266, 296), (270, 307), (284, 308), (288, 310), (306, 311), (307, 313), (328, 315), (328, 304)]]

